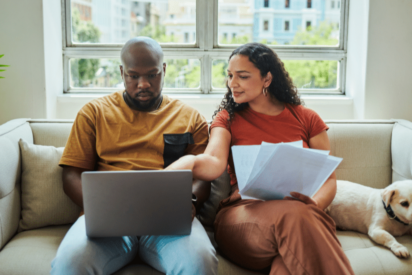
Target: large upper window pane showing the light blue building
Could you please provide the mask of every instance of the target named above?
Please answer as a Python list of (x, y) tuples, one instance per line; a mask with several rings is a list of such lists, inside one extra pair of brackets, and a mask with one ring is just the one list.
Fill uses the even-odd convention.
[(218, 42), (338, 46), (341, 10), (336, 2), (219, 0)]

